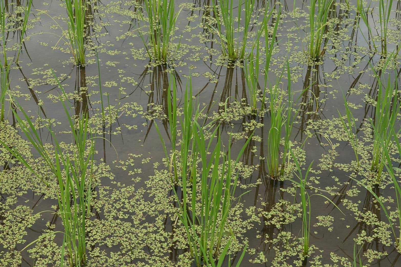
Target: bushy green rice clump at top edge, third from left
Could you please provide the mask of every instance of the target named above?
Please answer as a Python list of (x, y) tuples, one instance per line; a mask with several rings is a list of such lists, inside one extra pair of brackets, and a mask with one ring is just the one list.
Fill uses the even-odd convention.
[[(174, 31), (178, 15), (182, 7), (176, 11), (174, 0), (145, 0), (143, 1), (143, 16), (139, 12), (142, 21), (146, 22), (148, 28), (149, 42), (146, 42), (144, 35), (140, 32), (142, 42), (145, 44), (148, 56), (156, 61), (166, 63), (167, 56), (172, 47)], [(180, 44), (178, 43), (176, 50)]]

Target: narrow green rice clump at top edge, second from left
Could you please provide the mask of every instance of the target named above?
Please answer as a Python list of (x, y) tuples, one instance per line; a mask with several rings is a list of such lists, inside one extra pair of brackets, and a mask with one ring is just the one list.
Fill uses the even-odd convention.
[(85, 65), (86, 0), (65, 1), (68, 15), (68, 39), (75, 64)]

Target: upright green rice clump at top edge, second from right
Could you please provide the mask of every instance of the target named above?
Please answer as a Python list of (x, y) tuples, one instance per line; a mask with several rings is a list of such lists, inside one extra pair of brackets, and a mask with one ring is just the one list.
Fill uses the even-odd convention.
[[(334, 0), (311, 0), (309, 6), (310, 39), (308, 53), (310, 59), (318, 60), (326, 50), (327, 39), (323, 41), (328, 24), (328, 12)], [(294, 2), (295, 3), (295, 2)], [(317, 13), (316, 13), (317, 8)]]

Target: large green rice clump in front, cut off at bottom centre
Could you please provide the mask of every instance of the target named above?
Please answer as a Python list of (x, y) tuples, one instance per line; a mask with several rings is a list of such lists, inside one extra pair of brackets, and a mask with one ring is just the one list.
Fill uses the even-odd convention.
[[(228, 145), (228, 151), (224, 152), (221, 148), (218, 129), (213, 132), (213, 136), (209, 141), (206, 141), (205, 139), (203, 127), (201, 127), (196, 121), (192, 125), (192, 129), (194, 149), (196, 151), (194, 155), (199, 155), (201, 158), (201, 170), (199, 171), (201, 179), (199, 182), (197, 182), (195, 178), (192, 179), (191, 207), (195, 207), (196, 203), (196, 195), (194, 195), (194, 191), (196, 191), (197, 187), (196, 183), (201, 183), (200, 202), (201, 211), (204, 211), (201, 212), (200, 215), (192, 214), (193, 220), (190, 221), (190, 227), (194, 239), (198, 239), (196, 236), (198, 233), (195, 225), (201, 225), (202, 229), (199, 239), (196, 240), (201, 251), (200, 255), (196, 257), (196, 262), (198, 266), (201, 266), (201, 259), (203, 258), (205, 261), (205, 257), (207, 257), (209, 258), (209, 260), (205, 261), (207, 266), (215, 266), (213, 261), (218, 261), (217, 266), (222, 266), (231, 240), (233, 239), (233, 233), (231, 233), (230, 239), (221, 251), (220, 246), (223, 237), (227, 235), (225, 233), (227, 218), (229, 216), (230, 208), (235, 202), (235, 189), (238, 181), (238, 173), (235, 174), (235, 167), (242, 156), (246, 145), (249, 143), (250, 138), (238, 153), (235, 162), (233, 162), (231, 159), (231, 141)], [(217, 141), (214, 140), (215, 134), (217, 134)], [(211, 152), (210, 155), (208, 155), (209, 152)], [(223, 156), (221, 154), (223, 154)], [(219, 172), (220, 162), (221, 172)], [(196, 177), (198, 171), (195, 165), (192, 166), (191, 177)], [(243, 255), (241, 256), (241, 259), (242, 257)], [(241, 259), (239, 263), (237, 263), (237, 266), (241, 263)]]

